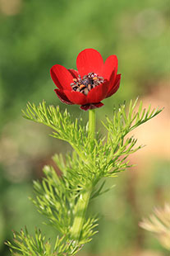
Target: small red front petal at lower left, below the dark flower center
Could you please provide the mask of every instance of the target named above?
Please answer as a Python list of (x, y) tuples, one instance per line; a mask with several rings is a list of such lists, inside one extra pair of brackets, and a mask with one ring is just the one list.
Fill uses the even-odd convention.
[(85, 105), (87, 103), (87, 97), (81, 92), (64, 90), (64, 94), (67, 96), (70, 102), (77, 105)]

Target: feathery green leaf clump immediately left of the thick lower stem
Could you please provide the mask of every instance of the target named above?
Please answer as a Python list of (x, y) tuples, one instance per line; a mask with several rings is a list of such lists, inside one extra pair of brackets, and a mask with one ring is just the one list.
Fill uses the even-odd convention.
[(57, 230), (68, 234), (73, 217), (75, 192), (71, 191), (66, 179), (57, 176), (52, 167), (46, 166), (44, 173), (46, 178), (42, 184), (39, 181), (34, 182), (36, 201), (33, 202)]

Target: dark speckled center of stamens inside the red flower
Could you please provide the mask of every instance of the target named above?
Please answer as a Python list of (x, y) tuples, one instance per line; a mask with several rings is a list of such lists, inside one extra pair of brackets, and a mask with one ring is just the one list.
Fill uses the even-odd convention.
[(97, 73), (88, 73), (83, 78), (73, 78), (73, 83), (71, 83), (71, 88), (73, 91), (81, 92), (85, 95), (90, 92), (91, 89), (98, 86), (100, 83), (103, 83), (103, 77), (99, 77)]

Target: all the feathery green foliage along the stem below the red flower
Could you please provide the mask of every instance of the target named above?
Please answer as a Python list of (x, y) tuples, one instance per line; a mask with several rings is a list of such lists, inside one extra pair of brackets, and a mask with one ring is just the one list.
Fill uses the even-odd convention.
[[(58, 176), (51, 166), (44, 167), (45, 177), (42, 183), (34, 182), (35, 198), (32, 199), (38, 211), (48, 218), (48, 224), (56, 228), (67, 244), (57, 242), (52, 251), (51, 245), (44, 243), (44, 237), (39, 231), (35, 240), (28, 234), (16, 233), (18, 247), (11, 249), (21, 251), (18, 255), (74, 255), (85, 243), (88, 243), (97, 232), (97, 219), (86, 216), (86, 209), (94, 197), (103, 192), (104, 182), (98, 187), (103, 178), (114, 177), (117, 173), (131, 165), (127, 157), (140, 149), (135, 147), (136, 139), (126, 135), (136, 127), (158, 115), (161, 110), (142, 109), (142, 102), (136, 111), (136, 102), (130, 102), (126, 112), (125, 104), (113, 111), (113, 120), (107, 117), (103, 122), (108, 135), (99, 133), (91, 135), (90, 126), (82, 126), (81, 121), (71, 121), (70, 114), (61, 113), (59, 107), (46, 107), (45, 102), (38, 107), (28, 104), (24, 117), (30, 121), (42, 123), (53, 129), (53, 137), (67, 141), (74, 149), (64, 159), (62, 155), (54, 155), (53, 161), (60, 168)], [(58, 241), (58, 239), (57, 239)], [(28, 250), (29, 253), (25, 253)], [(34, 252), (34, 254), (33, 254)], [(44, 252), (44, 254), (42, 254)]]

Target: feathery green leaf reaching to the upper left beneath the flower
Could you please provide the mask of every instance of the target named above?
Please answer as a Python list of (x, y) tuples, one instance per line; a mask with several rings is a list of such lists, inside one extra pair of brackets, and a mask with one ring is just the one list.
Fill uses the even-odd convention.
[(78, 125), (77, 119), (75, 123), (71, 121), (67, 109), (62, 114), (59, 107), (46, 107), (45, 102), (39, 103), (39, 107), (29, 103), (26, 112), (23, 111), (23, 113), (25, 118), (52, 128), (54, 138), (66, 140), (82, 157), (82, 149), (89, 142), (87, 141), (87, 130)]

